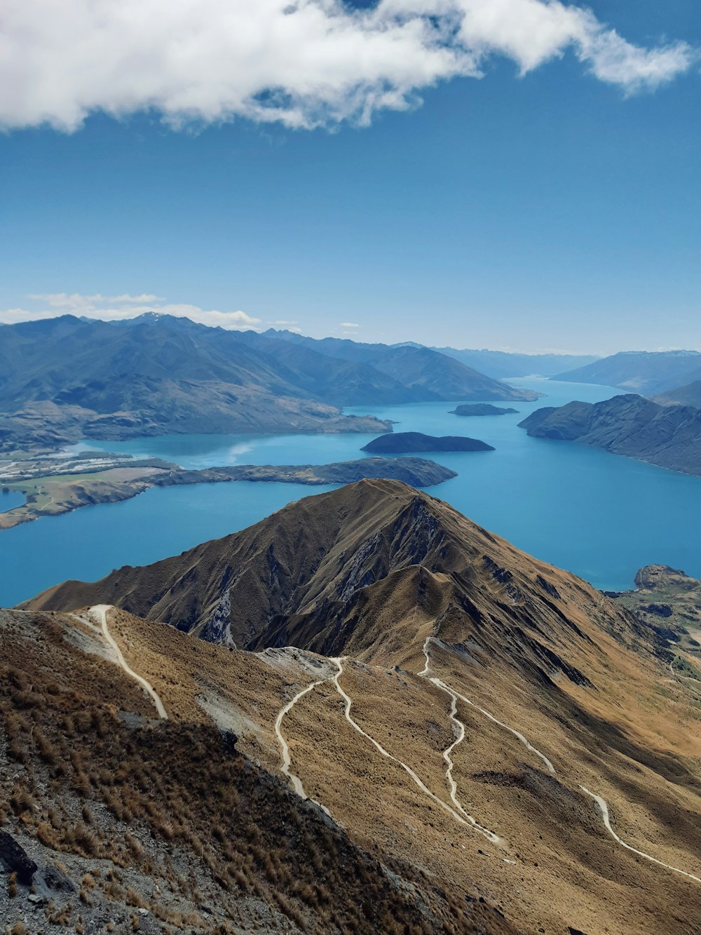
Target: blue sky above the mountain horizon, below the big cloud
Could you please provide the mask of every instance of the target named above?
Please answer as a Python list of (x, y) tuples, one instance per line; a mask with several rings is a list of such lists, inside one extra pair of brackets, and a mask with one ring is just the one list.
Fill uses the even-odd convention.
[[(509, 4), (542, 6), (497, 6)], [(222, 5), (202, 8), (215, 16)], [(38, 16), (43, 0), (27, 6)], [(454, 6), (462, 16), (480, 4)], [(183, 121), (161, 74), (165, 90), (142, 102), (132, 86), (117, 100), (114, 82), (95, 92), (88, 111), (117, 117), (79, 112), (86, 92), (75, 76), (53, 71), (29, 91), (18, 79), (22, 93), (0, 98), (0, 320), (164, 308), (364, 340), (701, 348), (701, 9), (695, 0), (590, 9), (639, 48), (687, 43), (686, 58), (672, 46), (677, 57), (665, 52), (652, 71), (627, 52), (611, 65), (601, 52), (610, 34), (587, 21), (588, 37), (557, 47), (561, 57), (539, 50), (532, 64), (524, 56), (550, 27), (536, 23), (531, 35), (526, 23), (523, 48), (502, 29), (478, 65), (465, 45), (459, 61), (436, 65), (422, 39), (409, 50), (410, 80), (379, 50), (379, 85), (394, 97), (369, 116), (379, 97), (366, 76), (360, 93), (344, 84), (311, 99), (292, 63), (279, 120), (251, 109), (270, 106), (265, 94), (228, 98), (216, 112), (208, 85)], [(370, 41), (366, 29), (350, 39), (349, 68)], [(119, 41), (131, 51), (129, 36)], [(47, 42), (29, 51), (55, 67)], [(445, 77), (416, 79), (429, 65)], [(127, 67), (136, 91), (153, 79), (145, 71), (141, 81), (150, 65), (140, 59), (122, 58)], [(483, 77), (471, 77), (476, 67)], [(410, 106), (393, 109), (402, 94)]]

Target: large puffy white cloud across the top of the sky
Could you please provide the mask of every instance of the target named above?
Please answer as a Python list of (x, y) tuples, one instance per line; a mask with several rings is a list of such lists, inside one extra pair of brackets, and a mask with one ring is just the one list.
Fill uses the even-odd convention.
[(632, 45), (558, 0), (4, 0), (0, 124), (75, 130), (94, 110), (148, 108), (176, 124), (366, 123), (481, 76), (492, 55), (525, 73), (566, 50), (626, 92), (695, 58), (683, 42)]

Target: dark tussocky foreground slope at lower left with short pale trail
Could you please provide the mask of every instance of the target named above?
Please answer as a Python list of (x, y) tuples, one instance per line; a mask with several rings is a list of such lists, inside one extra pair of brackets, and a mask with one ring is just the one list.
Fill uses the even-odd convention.
[(515, 933), (288, 788), (276, 706), (313, 657), (99, 609), (0, 611), (0, 654), (3, 930)]

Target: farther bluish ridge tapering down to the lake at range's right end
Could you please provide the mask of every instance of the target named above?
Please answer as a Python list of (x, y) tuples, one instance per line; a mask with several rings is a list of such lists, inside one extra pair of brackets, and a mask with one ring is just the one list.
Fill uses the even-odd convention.
[[(306, 338), (270, 329), (262, 336), (248, 332), (251, 342), (279, 340), (320, 352), (327, 357), (373, 367), (402, 384), (416, 401), (510, 399), (533, 400), (537, 394), (495, 381), (451, 356), (413, 344), (364, 344), (342, 338)], [(388, 400), (389, 401), (389, 400)], [(409, 401), (409, 400), (406, 400)]]

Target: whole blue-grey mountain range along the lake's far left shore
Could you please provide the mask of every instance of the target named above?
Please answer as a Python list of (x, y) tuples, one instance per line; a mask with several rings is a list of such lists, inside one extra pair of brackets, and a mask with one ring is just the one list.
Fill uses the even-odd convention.
[(156, 314), (6, 325), (0, 447), (168, 433), (379, 432), (391, 425), (344, 416), (340, 407), (536, 397), (428, 348), (367, 347), (343, 357), (291, 333), (225, 331)]

